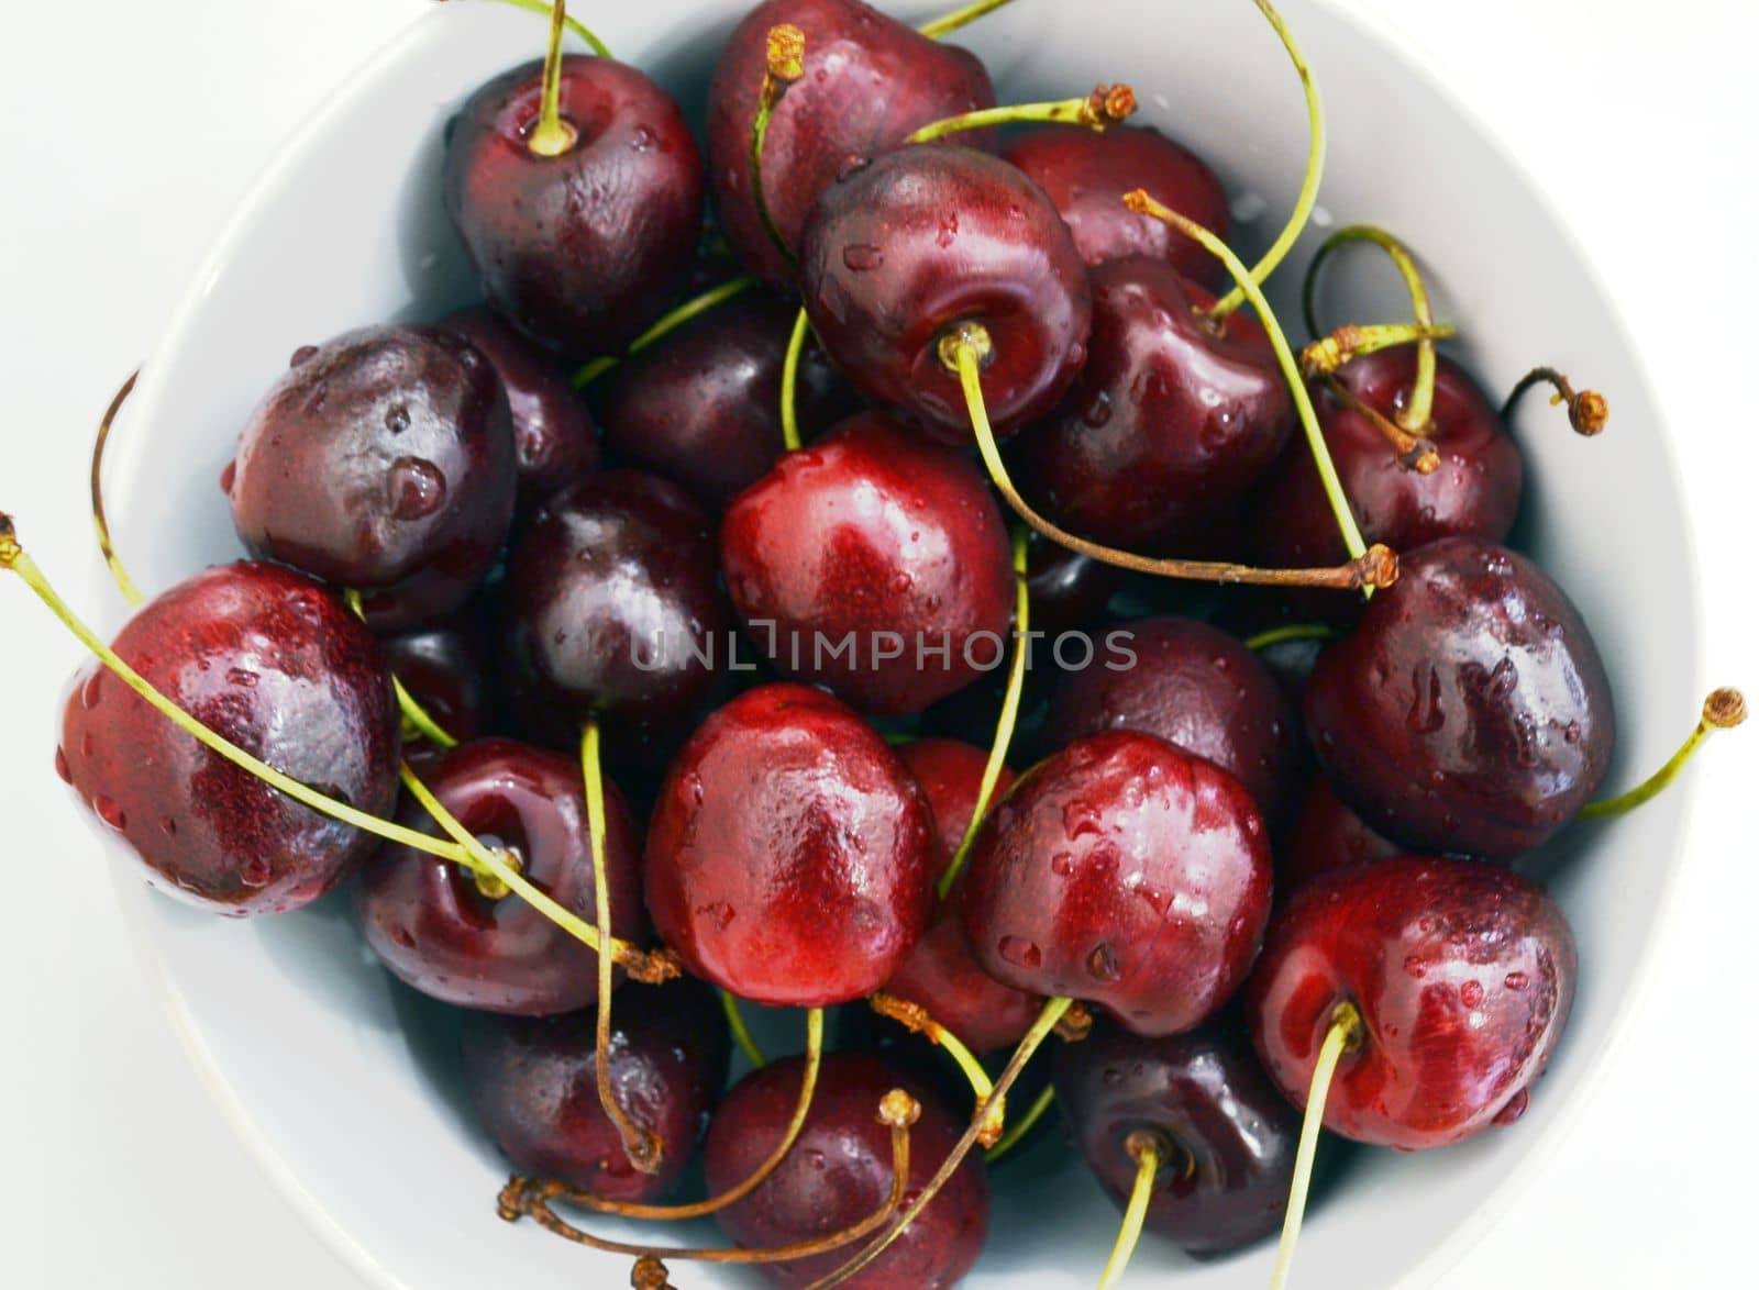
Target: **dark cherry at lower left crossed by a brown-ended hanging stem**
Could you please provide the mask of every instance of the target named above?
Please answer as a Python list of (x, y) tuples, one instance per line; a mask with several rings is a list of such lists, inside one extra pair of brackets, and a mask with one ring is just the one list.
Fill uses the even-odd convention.
[(681, 977), (630, 982), (610, 1023), (610, 1083), (660, 1137), (660, 1172), (630, 1163), (598, 1102), (593, 1012), (507, 1018), (466, 1012), (459, 1033), (464, 1088), (482, 1127), (521, 1174), (554, 1178), (609, 1200), (663, 1197), (697, 1151), (726, 1086), (732, 1039), (714, 991)]

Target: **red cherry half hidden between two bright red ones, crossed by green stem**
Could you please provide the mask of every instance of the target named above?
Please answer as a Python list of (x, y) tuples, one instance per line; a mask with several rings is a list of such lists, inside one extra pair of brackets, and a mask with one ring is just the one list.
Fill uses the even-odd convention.
[[(934, 873), (939, 877), (959, 851), (976, 810), (989, 752), (955, 740), (913, 740), (899, 749), (899, 757), (916, 777), (929, 798), (929, 810), (934, 812), (939, 835)], [(1003, 768), (996, 796), (1006, 793), (1010, 784), (1013, 773)], [(966, 940), (962, 891), (964, 882), (957, 882), (948, 898), (936, 905), (929, 930), (885, 989), (925, 1007), (929, 1016), (974, 1053), (1011, 1047), (1033, 1028), (1043, 1011), (1043, 998), (1001, 984), (978, 965)]]

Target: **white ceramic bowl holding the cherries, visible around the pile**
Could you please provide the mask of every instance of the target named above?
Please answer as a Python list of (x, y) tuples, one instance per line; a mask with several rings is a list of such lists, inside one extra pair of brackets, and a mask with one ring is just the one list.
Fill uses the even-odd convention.
[[(596, 5), (602, 35), (686, 107), (742, 0)], [(929, 5), (901, 9), (923, 16)], [(1701, 622), (1680, 489), (1641, 359), (1613, 304), (1532, 183), (1420, 62), (1333, 0), (1286, 0), (1325, 91), (1332, 167), (1323, 221), (1407, 236), (1441, 313), (1467, 325), (1469, 362), (1506, 388), (1536, 362), (1592, 374), (1617, 432), (1592, 446), (1557, 413), (1523, 418), (1530, 462), (1523, 541), (1571, 591), (1613, 668), (1622, 745), (1655, 747), (1692, 710)], [(433, 316), (471, 297), (440, 207), (442, 127), (494, 72), (538, 53), (544, 23), (449, 4), (375, 56), (274, 153), (146, 364), (113, 446), (118, 541), (162, 589), (237, 552), (215, 485), (250, 408), (299, 344), (385, 318)], [(1242, 197), (1254, 250), (1293, 200), (1305, 155), (1300, 95), (1247, 0), (1022, 0), (959, 37), (1003, 100), (1129, 81), (1143, 120), (1191, 142)], [(1293, 283), (1312, 234), (1279, 278)], [(1328, 315), (1395, 318), (1391, 274), (1367, 253), (1333, 272)], [(1353, 283), (1353, 285), (1346, 285)], [(1534, 408), (1543, 408), (1536, 399)], [(1641, 517), (1641, 524), (1631, 522)], [(102, 569), (93, 569), (93, 587)], [(90, 603), (114, 603), (107, 591)], [(107, 626), (116, 626), (114, 622)], [(1613, 782), (1632, 773), (1620, 759)], [(1367, 1290), (1421, 1283), (1511, 1202), (1601, 1063), (1641, 972), (1675, 868), (1675, 793), (1615, 831), (1573, 833), (1546, 865), (1581, 944), (1564, 1046), (1514, 1128), (1425, 1156), (1363, 1153), (1310, 1216), (1298, 1279)], [(1567, 852), (1567, 854), (1564, 854)], [(503, 1165), (450, 1077), (438, 1011), (394, 989), (336, 900), (292, 917), (229, 923), (146, 893), (118, 866), (197, 1067), (292, 1204), (380, 1286), (624, 1285), (626, 1262), (494, 1216)], [(1055, 1151), (1010, 1178), (971, 1285), (1089, 1285), (1115, 1213), (1078, 1160)], [(667, 1234), (674, 1236), (674, 1234)], [(714, 1239), (698, 1227), (691, 1237)], [(1189, 1290), (1261, 1286), (1268, 1251), (1194, 1265), (1152, 1237), (1135, 1279), (1177, 1271)], [(688, 1285), (742, 1274), (677, 1269)]]

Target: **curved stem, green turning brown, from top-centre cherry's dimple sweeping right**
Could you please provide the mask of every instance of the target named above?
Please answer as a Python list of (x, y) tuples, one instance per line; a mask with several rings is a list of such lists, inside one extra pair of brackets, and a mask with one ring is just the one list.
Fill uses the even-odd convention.
[(1001, 492), (1015, 515), (1059, 547), (1101, 564), (1115, 564), (1120, 569), (1135, 569), (1136, 573), (1149, 573), (1161, 578), (1189, 578), (1194, 582), (1244, 582), (1265, 587), (1354, 591), (1358, 587), (1390, 587), (1398, 576), (1398, 557), (1379, 543), (1365, 548), (1349, 564), (1330, 569), (1256, 569), (1247, 564), (1215, 561), (1150, 559), (1077, 538), (1068, 529), (1052, 524), (1033, 510), (1008, 476), (1008, 466), (1001, 459), (1001, 448), (996, 445), (996, 431), (990, 429), (989, 409), (983, 402), (982, 369), (983, 355), (989, 348), (989, 332), (980, 323), (964, 323), (941, 339), (941, 362), (946, 362), (959, 373), (959, 383), (966, 394), (966, 409), (971, 415), (971, 431), (976, 434), (978, 452), (983, 455), (983, 464), (989, 467), (996, 490)]

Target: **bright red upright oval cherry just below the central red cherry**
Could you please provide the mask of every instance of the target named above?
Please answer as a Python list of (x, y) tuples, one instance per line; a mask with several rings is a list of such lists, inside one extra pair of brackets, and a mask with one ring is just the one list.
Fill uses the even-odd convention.
[(932, 909), (934, 821), (860, 717), (804, 685), (711, 715), (667, 772), (647, 909), (697, 975), (776, 1007), (871, 995)]

